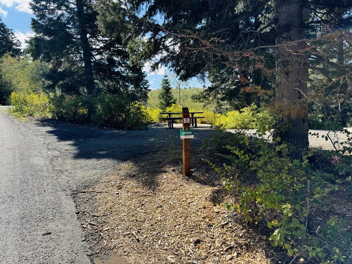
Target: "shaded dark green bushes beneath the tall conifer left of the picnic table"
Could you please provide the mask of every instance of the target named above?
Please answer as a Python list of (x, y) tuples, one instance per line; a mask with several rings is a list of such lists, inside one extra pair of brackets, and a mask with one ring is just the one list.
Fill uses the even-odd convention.
[(146, 129), (150, 117), (146, 108), (123, 95), (59, 96), (51, 99), (52, 116), (78, 124), (92, 124), (127, 130)]

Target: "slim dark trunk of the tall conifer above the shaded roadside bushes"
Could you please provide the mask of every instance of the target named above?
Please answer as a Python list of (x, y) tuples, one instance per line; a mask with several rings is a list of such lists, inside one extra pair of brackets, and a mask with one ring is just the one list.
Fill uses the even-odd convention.
[(84, 7), (82, 0), (76, 0), (77, 19), (79, 27), (80, 46), (82, 48), (83, 63), (84, 63), (84, 76), (85, 88), (88, 94), (94, 94), (96, 85), (94, 83), (93, 68), (92, 68), (92, 53), (90, 44), (87, 37), (87, 31), (84, 23)]

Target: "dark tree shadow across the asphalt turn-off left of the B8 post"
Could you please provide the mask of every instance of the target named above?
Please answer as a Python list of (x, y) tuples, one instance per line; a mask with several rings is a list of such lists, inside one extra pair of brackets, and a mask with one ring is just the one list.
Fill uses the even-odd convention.
[[(58, 141), (73, 146), (75, 159), (122, 161), (155, 151), (168, 137), (176, 139), (180, 146), (182, 143), (178, 129), (149, 127), (148, 130), (142, 131), (122, 131), (52, 120), (41, 120), (38, 126), (50, 127), (47, 133), (54, 135)], [(196, 139), (192, 142), (198, 145), (210, 132), (211, 130), (197, 131)]]

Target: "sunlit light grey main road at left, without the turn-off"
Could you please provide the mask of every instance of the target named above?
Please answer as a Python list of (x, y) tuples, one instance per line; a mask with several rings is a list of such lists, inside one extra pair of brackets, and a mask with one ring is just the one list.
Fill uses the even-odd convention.
[(43, 137), (0, 113), (0, 262), (90, 263), (75, 205)]

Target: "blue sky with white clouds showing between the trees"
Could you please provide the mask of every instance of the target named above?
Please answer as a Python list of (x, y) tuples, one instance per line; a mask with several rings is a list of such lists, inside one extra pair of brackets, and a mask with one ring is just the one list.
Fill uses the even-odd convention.
[[(31, 14), (29, 2), (30, 0), (0, 0), (0, 17), (8, 28), (14, 31), (17, 38), (21, 41), (22, 47), (25, 46), (25, 40), (32, 34), (30, 24), (31, 18), (34, 16)], [(148, 74), (147, 80), (153, 90), (160, 88), (164, 73), (167, 73), (171, 83), (174, 83), (174, 74), (165, 67), (161, 67), (155, 72), (150, 72), (150, 65), (146, 64), (144, 70)], [(183, 83), (184, 87), (203, 87), (203, 85), (204, 83), (197, 78), (192, 78)]]

